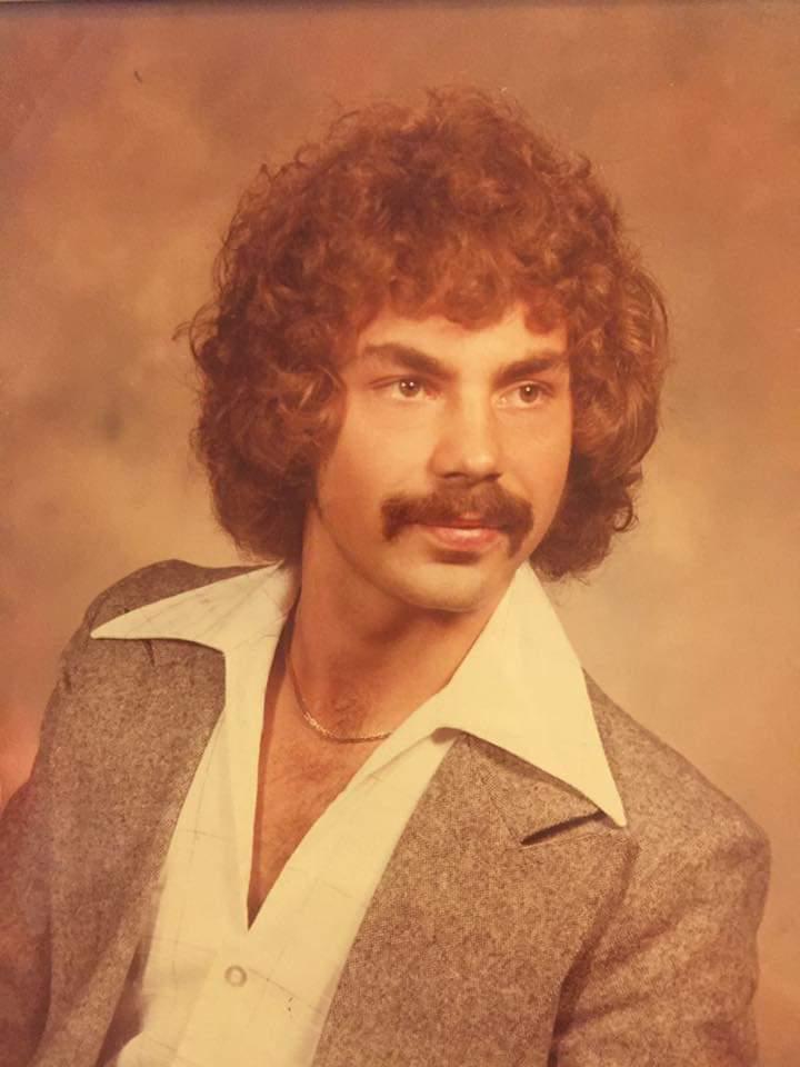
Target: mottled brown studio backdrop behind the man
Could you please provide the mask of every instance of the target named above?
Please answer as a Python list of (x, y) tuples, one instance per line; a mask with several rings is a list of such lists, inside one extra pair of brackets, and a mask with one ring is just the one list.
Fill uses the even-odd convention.
[(759, 1013), (796, 1064), (799, 46), (793, 3), (0, 8), (8, 785), (99, 588), (236, 558), (171, 332), (259, 162), (340, 103), (508, 87), (621, 195), (677, 357), (638, 532), (556, 595), (601, 684), (770, 832)]

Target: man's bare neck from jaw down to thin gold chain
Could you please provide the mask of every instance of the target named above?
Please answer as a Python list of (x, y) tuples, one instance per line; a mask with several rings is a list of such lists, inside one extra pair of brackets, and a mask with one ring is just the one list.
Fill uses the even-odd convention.
[(447, 685), (501, 595), (429, 610), (304, 558), (290, 648), (306, 704), (340, 734), (396, 729)]

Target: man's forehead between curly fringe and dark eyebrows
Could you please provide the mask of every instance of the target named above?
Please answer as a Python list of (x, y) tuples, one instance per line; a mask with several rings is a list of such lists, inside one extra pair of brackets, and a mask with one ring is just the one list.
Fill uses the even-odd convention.
[(567, 329), (559, 323), (542, 330), (528, 320), (522, 306), (511, 308), (501, 319), (480, 328), (462, 326), (443, 316), (407, 318), (386, 311), (359, 335), (356, 356), (381, 358), (392, 349), (431, 356), (453, 369), (479, 365), (493, 369), (508, 362), (567, 351)]

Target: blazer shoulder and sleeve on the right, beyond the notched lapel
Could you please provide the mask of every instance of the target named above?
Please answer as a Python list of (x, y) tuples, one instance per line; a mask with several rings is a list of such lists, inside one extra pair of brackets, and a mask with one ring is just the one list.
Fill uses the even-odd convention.
[[(756, 1063), (751, 998), (767, 839), (700, 771), (589, 682), (633, 844), (562, 989), (559, 1061)], [(603, 1061), (606, 1060), (604, 1057)]]

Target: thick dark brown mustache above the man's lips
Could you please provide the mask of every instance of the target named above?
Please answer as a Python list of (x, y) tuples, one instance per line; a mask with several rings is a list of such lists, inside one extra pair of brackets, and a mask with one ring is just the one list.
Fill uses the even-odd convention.
[(533, 509), (497, 482), (477, 488), (442, 488), (426, 496), (398, 495), (381, 505), (383, 537), (391, 541), (404, 526), (451, 526), (469, 516), (478, 526), (502, 529), (509, 539), (509, 556), (533, 528)]

